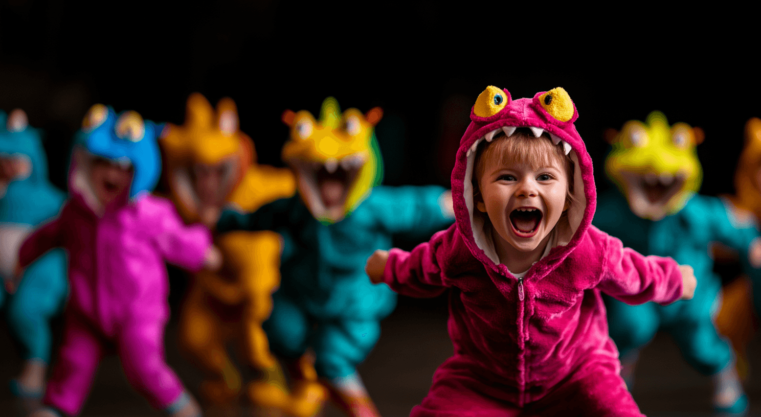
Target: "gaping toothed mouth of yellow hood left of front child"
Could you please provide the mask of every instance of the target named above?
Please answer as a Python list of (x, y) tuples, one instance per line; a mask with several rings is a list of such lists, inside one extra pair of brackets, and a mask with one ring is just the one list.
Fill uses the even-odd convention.
[(327, 158), (324, 162), (289, 158), (288, 164), (298, 174), (299, 189), (316, 218), (335, 217), (330, 212), (344, 209), (346, 199), (359, 177), (368, 155), (358, 152), (344, 158)]

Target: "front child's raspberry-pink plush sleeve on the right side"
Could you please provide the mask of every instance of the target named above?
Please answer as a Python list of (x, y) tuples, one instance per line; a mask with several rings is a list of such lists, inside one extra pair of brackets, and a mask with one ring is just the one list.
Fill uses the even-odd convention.
[[(600, 232), (602, 233), (602, 232)], [(644, 256), (607, 235), (598, 288), (626, 304), (673, 303), (682, 296), (682, 273), (670, 257)]]

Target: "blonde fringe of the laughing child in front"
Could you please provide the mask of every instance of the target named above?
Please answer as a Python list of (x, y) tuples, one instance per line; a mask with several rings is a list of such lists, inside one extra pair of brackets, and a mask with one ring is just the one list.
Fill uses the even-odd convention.
[[(568, 189), (565, 192), (565, 203), (570, 207), (575, 202), (573, 183), (575, 164), (565, 154), (561, 144), (555, 145), (549, 135), (543, 133), (539, 138), (533, 137), (527, 129), (516, 129), (509, 137), (500, 132), (492, 142), (482, 141), (476, 149), (475, 169), (473, 171), (473, 197), (480, 193), (479, 180), (486, 170), (484, 161), (499, 158), (501, 164), (528, 164), (531, 169), (560, 164), (568, 176)], [(565, 215), (565, 213), (564, 213)]]

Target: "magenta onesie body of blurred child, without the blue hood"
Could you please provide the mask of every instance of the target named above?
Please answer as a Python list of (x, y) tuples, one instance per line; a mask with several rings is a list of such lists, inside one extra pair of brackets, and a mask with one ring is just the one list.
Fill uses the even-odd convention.
[[(164, 360), (169, 283), (164, 259), (199, 270), (212, 244), (203, 226), (185, 226), (167, 199), (141, 193), (92, 209), (91, 193), (72, 164), (72, 198), (59, 217), (21, 247), (22, 267), (53, 247), (68, 252), (71, 295), (63, 344), (45, 403), (77, 415), (103, 355), (116, 349), (129, 382), (152, 406), (165, 409), (183, 386)], [(88, 204), (89, 202), (89, 204)]]

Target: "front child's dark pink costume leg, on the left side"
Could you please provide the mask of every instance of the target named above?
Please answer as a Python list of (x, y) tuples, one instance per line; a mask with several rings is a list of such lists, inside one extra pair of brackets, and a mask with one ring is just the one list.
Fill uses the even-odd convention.
[(512, 417), (521, 409), (508, 401), (489, 396), (479, 387), (483, 382), (463, 370), (448, 368), (444, 362), (434, 374), (433, 384), (422, 404), (412, 408), (409, 417)]

